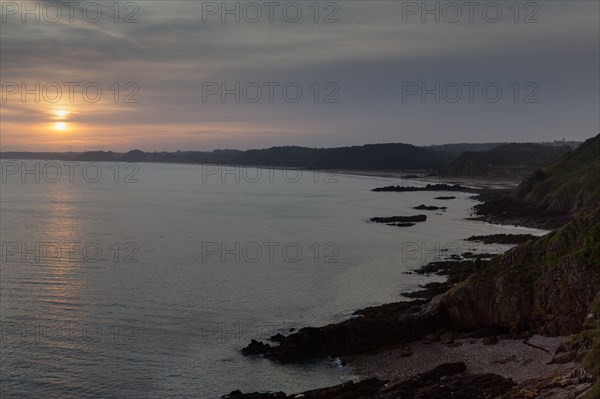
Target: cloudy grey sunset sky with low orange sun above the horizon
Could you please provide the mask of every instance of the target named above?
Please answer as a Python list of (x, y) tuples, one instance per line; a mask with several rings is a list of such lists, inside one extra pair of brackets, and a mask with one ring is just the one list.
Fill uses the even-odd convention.
[(0, 148), (585, 140), (599, 4), (2, 0)]

